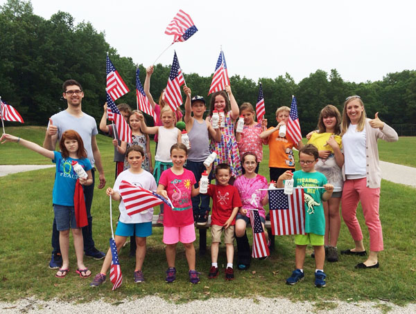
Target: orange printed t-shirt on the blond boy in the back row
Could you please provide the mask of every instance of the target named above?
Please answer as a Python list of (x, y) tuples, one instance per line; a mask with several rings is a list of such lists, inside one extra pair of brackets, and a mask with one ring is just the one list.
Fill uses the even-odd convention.
[[(268, 130), (273, 127), (268, 128)], [(268, 138), (270, 150), (269, 167), (295, 169), (293, 147), (295, 143), (290, 138), (279, 136), (279, 130), (270, 134)]]

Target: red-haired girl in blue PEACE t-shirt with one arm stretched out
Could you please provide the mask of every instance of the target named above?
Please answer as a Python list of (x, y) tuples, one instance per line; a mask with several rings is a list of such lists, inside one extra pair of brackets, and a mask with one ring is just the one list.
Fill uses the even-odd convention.
[[(29, 142), (28, 140), (17, 138), (16, 136), (12, 136), (10, 134), (3, 134), (0, 141), (2, 141), (1, 144), (4, 142), (17, 142), (28, 149), (36, 151), (46, 158), (50, 158), (52, 162), (56, 164), (55, 184), (53, 185), (52, 199), (53, 211), (55, 212), (56, 224), (59, 230), (62, 267), (58, 270), (55, 277), (63, 278), (69, 271), (69, 228), (72, 229), (73, 246), (75, 247), (78, 264), (76, 273), (78, 273), (80, 277), (91, 276), (91, 271), (85, 267), (83, 261), (84, 240), (81, 227), (83, 227), (85, 223), (80, 222), (83, 220), (83, 215), (85, 216), (84, 220), (87, 221), (87, 212), (85, 210), (85, 202), (83, 202), (83, 193), (80, 193), (80, 197), (74, 202), (74, 195), (78, 196), (76, 188), (78, 191), (81, 189), (80, 185), (77, 185), (78, 180), (81, 185), (92, 185), (92, 166), (87, 158), (87, 151), (84, 148), (83, 139), (76, 131), (65, 131), (59, 142), (60, 152), (50, 151), (49, 149), (40, 147), (40, 145), (37, 145), (34, 142)], [(85, 169), (85, 172), (87, 172), (88, 175), (87, 178), (80, 178), (76, 172), (74, 172), (72, 166), (73, 160)], [(77, 216), (81, 216), (80, 219), (76, 219), (75, 206), (77, 207), (77, 210), (79, 209), (79, 214), (77, 212)]]

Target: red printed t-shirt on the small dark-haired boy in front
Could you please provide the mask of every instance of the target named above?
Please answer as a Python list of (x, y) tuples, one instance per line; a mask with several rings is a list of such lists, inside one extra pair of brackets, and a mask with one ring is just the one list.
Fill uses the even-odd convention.
[[(243, 205), (239, 191), (233, 185), (210, 184), (207, 194), (212, 197), (211, 225), (224, 225), (232, 210)], [(235, 218), (231, 224), (235, 225)]]

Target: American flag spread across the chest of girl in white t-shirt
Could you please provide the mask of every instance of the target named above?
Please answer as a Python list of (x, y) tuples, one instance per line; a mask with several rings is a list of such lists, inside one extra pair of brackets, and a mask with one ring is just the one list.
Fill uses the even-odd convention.
[(123, 199), (125, 210), (129, 216), (144, 212), (151, 207), (166, 203), (166, 205), (173, 207), (171, 201), (159, 194), (137, 187), (127, 181), (121, 181), (120, 195)]

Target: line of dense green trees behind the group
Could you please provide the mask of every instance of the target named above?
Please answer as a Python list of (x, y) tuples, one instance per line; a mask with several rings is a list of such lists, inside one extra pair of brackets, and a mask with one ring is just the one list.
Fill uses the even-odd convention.
[[(105, 33), (98, 32), (89, 22), (75, 24), (67, 12), (58, 11), (44, 19), (33, 13), (30, 1), (8, 0), (0, 6), (0, 46), (0, 95), (28, 124), (45, 125), (53, 113), (66, 108), (61, 86), (70, 78), (83, 85), (83, 111), (99, 120), (105, 102), (107, 52), (130, 89), (116, 102), (136, 107), (135, 71), (140, 69), (144, 84), (144, 65), (135, 64), (130, 57), (120, 57), (105, 41)], [(150, 86), (155, 101), (166, 87), (169, 73), (170, 66), (155, 66)], [(184, 78), (193, 95), (207, 98), (212, 75), (184, 73)], [(331, 73), (317, 70), (299, 83), (288, 73), (275, 79), (262, 77), (258, 82), (234, 75), (230, 82), (237, 103), (251, 102), (253, 106), (257, 102), (258, 83), (262, 83), (269, 126), (276, 124), (277, 107), (290, 107), (291, 95), (295, 95), (304, 134), (315, 129), (320, 110), (326, 104), (342, 111), (349, 95), (361, 96), (370, 118), (379, 111), (381, 120), (390, 125), (416, 121), (416, 71), (388, 73), (383, 80), (361, 83), (345, 82), (336, 69)]]

